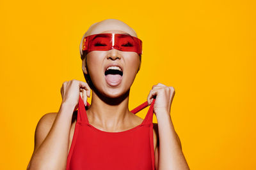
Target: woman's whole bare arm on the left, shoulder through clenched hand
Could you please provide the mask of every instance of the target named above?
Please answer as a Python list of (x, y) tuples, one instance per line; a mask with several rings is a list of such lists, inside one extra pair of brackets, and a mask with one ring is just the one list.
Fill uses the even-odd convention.
[(63, 99), (55, 120), (46, 114), (36, 126), (35, 150), (28, 165), (29, 170), (66, 169), (72, 115), (77, 108), (79, 93), (86, 103), (87, 96), (90, 97), (87, 83), (78, 80), (63, 83)]

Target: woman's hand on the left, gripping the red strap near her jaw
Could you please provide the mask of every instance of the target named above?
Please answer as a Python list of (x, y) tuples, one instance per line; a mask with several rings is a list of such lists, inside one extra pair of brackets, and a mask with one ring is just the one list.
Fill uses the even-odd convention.
[(71, 104), (71, 106), (74, 106), (75, 109), (77, 109), (78, 101), (79, 101), (79, 95), (84, 101), (84, 105), (87, 104), (87, 97), (90, 97), (91, 89), (89, 85), (86, 82), (79, 81), (79, 80), (70, 80), (70, 81), (64, 81), (61, 87), (61, 97), (63, 103)]

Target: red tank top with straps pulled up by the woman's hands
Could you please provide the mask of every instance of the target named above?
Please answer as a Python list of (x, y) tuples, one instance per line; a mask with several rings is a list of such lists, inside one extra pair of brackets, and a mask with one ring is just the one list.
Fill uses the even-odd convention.
[[(79, 97), (77, 122), (66, 169), (154, 170), (152, 118), (155, 100), (140, 125), (127, 131), (106, 132), (89, 124), (83, 99)], [(147, 106), (146, 101), (131, 112), (136, 114)]]

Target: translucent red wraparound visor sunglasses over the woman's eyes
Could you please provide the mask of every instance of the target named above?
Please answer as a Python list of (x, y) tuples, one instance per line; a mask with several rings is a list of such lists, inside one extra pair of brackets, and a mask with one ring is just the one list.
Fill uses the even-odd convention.
[(125, 34), (93, 34), (83, 39), (83, 51), (108, 51), (115, 48), (124, 52), (136, 52), (142, 54), (142, 41), (134, 36)]

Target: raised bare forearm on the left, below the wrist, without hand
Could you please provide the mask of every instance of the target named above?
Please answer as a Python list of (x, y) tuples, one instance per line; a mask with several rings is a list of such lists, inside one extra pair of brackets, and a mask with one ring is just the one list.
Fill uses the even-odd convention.
[(65, 169), (73, 111), (73, 106), (61, 104), (49, 134), (33, 153), (29, 169)]

